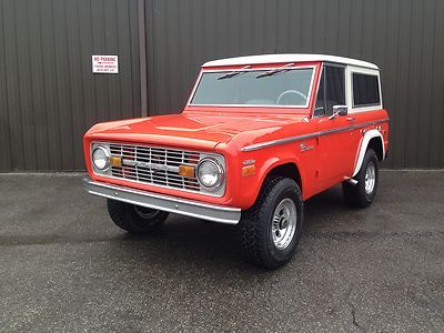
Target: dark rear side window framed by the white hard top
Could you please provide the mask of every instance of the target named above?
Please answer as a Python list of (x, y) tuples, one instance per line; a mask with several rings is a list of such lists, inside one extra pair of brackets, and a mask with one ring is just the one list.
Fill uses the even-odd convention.
[(377, 75), (353, 73), (353, 105), (369, 107), (381, 103)]

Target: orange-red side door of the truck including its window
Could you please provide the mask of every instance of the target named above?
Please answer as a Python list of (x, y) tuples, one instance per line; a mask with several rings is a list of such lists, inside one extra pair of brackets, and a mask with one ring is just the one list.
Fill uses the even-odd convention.
[(353, 169), (355, 119), (347, 114), (334, 114), (340, 105), (350, 109), (345, 97), (346, 80), (345, 67), (324, 64), (313, 112), (320, 133), (317, 179), (321, 190), (343, 181)]

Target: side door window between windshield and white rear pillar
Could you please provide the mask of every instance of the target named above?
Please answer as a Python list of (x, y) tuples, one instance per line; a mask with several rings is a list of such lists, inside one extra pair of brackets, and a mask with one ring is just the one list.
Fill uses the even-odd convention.
[(334, 105), (345, 104), (345, 69), (336, 65), (324, 65), (317, 90), (314, 117), (333, 114)]

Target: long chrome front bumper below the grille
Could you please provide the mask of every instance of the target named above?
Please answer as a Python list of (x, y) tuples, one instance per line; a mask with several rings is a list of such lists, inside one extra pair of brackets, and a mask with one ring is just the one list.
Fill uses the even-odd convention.
[(120, 185), (97, 182), (89, 178), (83, 179), (83, 185), (91, 194), (160, 211), (226, 224), (236, 224), (241, 219), (241, 209), (208, 204), (165, 194), (140, 191)]

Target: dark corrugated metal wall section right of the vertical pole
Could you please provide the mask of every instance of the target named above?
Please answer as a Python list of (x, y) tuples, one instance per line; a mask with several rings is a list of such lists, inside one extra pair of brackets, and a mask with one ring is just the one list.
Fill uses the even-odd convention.
[(444, 168), (443, 0), (147, 0), (151, 114), (179, 112), (206, 60), (329, 53), (380, 65), (385, 167)]

